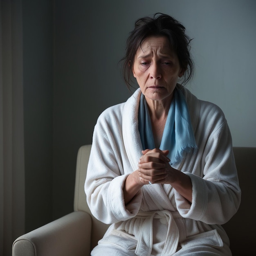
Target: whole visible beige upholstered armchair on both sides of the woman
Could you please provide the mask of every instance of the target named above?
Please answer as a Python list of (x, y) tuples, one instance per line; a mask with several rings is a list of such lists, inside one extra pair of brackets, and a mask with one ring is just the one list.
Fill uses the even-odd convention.
[[(90, 145), (79, 149), (76, 165), (74, 212), (17, 238), (13, 256), (89, 256), (107, 225), (91, 216), (84, 193)], [(238, 213), (224, 225), (236, 255), (254, 255), (256, 148), (234, 148), (242, 202)]]

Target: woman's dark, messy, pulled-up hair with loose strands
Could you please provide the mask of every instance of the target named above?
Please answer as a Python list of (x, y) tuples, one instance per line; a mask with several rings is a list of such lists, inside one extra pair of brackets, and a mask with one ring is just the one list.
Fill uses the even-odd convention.
[(172, 50), (177, 54), (181, 68), (185, 70), (183, 83), (187, 83), (193, 77), (194, 63), (189, 53), (191, 39), (185, 34), (185, 30), (180, 22), (163, 13), (155, 13), (153, 18), (138, 19), (127, 39), (126, 56), (121, 59), (124, 61), (123, 76), (127, 87), (132, 86), (130, 77), (137, 49), (149, 36), (165, 36), (169, 40)]

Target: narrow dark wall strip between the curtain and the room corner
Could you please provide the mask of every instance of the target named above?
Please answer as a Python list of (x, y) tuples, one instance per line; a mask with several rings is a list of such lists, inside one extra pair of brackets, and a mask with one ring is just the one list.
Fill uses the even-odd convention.
[(52, 220), (53, 3), (22, 0), (25, 229)]

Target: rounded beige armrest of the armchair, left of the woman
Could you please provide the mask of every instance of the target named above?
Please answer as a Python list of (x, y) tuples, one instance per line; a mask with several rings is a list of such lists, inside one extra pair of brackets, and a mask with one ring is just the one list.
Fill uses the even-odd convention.
[(91, 226), (88, 213), (74, 211), (17, 238), (12, 256), (90, 255)]

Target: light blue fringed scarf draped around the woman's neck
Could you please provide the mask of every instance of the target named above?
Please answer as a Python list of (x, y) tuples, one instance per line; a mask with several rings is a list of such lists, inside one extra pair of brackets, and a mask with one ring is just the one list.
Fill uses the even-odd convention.
[[(143, 149), (155, 148), (148, 106), (141, 93), (139, 104), (139, 133)], [(175, 88), (173, 101), (168, 112), (162, 136), (161, 150), (169, 150), (170, 164), (182, 161), (185, 153), (197, 149), (195, 136), (190, 121), (186, 99), (179, 88)]]

